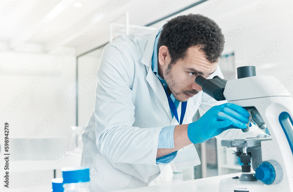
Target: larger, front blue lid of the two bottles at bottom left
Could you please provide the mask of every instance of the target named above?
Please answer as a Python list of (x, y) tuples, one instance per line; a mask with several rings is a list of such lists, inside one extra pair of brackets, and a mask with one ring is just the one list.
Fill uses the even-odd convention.
[(64, 183), (78, 183), (90, 181), (89, 167), (64, 167), (61, 168)]

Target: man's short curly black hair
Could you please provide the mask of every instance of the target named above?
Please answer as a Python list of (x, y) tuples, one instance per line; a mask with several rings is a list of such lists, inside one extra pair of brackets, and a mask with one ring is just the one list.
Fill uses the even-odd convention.
[(218, 62), (224, 50), (225, 38), (221, 28), (212, 19), (200, 14), (180, 15), (169, 20), (161, 31), (159, 47), (168, 47), (171, 65), (184, 59), (189, 47), (196, 45), (204, 51), (206, 59)]

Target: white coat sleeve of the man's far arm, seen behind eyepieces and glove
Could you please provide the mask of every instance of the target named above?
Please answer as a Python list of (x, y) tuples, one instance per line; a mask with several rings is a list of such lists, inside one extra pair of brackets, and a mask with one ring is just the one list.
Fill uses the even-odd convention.
[[(220, 67), (217, 68), (217, 70), (214, 72), (214, 74), (211, 75), (210, 78), (213, 78), (214, 76), (219, 76), (222, 79), (224, 79), (224, 76), (221, 72)], [(202, 116), (205, 112), (207, 112), (210, 108), (213, 106), (221, 105), (227, 103), (226, 100), (224, 101), (217, 101), (211, 96), (207, 95), (206, 93), (202, 93), (202, 103), (199, 106), (199, 112), (200, 116)], [(252, 124), (248, 132), (242, 132), (241, 129), (229, 129), (224, 132), (222, 132), (220, 135), (217, 135), (216, 138), (219, 140), (222, 139), (244, 139), (246, 137), (256, 137), (259, 134), (263, 134), (264, 132), (260, 130), (256, 125)]]

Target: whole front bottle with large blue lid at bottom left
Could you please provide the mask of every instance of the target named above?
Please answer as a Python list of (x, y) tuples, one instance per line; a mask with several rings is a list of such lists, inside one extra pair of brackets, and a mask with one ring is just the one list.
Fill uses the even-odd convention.
[(64, 192), (90, 192), (88, 167), (64, 167), (61, 169)]

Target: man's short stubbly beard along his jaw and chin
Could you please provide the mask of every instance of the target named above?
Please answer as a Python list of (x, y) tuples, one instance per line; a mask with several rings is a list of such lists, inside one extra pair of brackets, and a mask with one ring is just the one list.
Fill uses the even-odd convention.
[(199, 91), (197, 91), (196, 89), (182, 90), (180, 92), (176, 91), (175, 89), (177, 87), (180, 87), (180, 85), (178, 86), (178, 84), (173, 79), (173, 76), (172, 76), (172, 73), (171, 73), (171, 69), (172, 69), (173, 65), (174, 64), (169, 63), (166, 71), (164, 72), (164, 79), (166, 81), (166, 84), (169, 87), (170, 91), (172, 92), (173, 96), (176, 98), (177, 101), (180, 101), (180, 102), (188, 101), (188, 99), (187, 100), (180, 99), (179, 98), (180, 94), (185, 92), (187, 94), (196, 95), (196, 94), (198, 94)]

